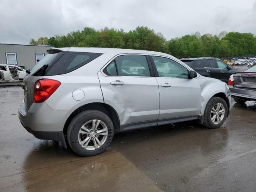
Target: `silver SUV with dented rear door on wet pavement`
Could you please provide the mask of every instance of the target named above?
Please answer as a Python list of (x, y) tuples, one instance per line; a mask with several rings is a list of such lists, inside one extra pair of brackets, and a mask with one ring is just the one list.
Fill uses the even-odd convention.
[(81, 156), (103, 152), (114, 132), (198, 120), (220, 127), (228, 86), (168, 54), (112, 48), (48, 50), (24, 78), (21, 124)]

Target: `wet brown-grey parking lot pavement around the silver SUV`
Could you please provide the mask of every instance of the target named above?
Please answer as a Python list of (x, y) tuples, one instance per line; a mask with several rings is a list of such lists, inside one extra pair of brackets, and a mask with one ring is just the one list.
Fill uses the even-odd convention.
[(0, 88), (0, 191), (255, 191), (256, 102), (232, 103), (219, 129), (195, 122), (119, 133), (77, 156), (18, 120), (19, 86)]

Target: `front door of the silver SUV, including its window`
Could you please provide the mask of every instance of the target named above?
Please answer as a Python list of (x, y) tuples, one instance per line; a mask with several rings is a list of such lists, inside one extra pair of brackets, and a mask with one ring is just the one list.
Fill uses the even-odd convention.
[(199, 116), (201, 89), (196, 78), (188, 78), (188, 70), (165, 57), (152, 56), (158, 77), (160, 119)]

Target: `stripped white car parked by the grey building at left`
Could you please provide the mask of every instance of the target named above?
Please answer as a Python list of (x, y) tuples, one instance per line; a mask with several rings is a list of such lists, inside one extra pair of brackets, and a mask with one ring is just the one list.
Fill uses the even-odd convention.
[(26, 71), (16, 65), (0, 65), (0, 82), (14, 82), (23, 80)]

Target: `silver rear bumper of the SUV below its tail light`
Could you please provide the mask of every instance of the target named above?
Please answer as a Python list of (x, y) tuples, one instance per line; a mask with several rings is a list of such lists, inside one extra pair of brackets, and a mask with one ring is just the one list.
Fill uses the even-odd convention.
[(60, 141), (66, 148), (63, 128), (71, 113), (72, 110), (53, 110), (45, 102), (33, 103), (26, 110), (23, 102), (19, 108), (19, 119), (22, 126), (36, 138)]

